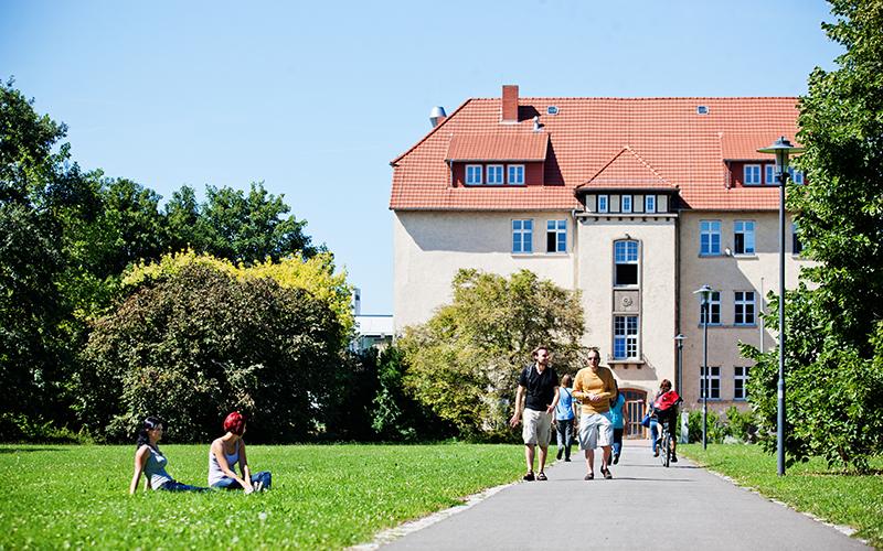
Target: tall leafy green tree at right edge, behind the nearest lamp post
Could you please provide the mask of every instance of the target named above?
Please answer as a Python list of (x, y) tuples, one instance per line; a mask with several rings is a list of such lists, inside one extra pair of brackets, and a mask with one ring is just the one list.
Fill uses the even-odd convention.
[[(807, 184), (788, 188), (804, 255), (818, 264), (786, 293), (786, 452), (863, 469), (883, 452), (883, 2), (831, 7), (838, 19), (822, 28), (845, 53), (809, 77), (797, 161)], [(778, 352), (745, 350), (757, 359), (749, 391), (772, 450)]]

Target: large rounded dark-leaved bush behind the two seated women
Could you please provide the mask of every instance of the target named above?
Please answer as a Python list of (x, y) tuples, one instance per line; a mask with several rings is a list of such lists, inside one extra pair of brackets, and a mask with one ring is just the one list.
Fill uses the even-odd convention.
[(249, 439), (313, 433), (334, 393), (340, 322), (301, 289), (190, 263), (147, 280), (95, 322), (74, 381), (83, 423), (125, 440), (148, 414), (170, 440), (204, 441), (238, 409)]

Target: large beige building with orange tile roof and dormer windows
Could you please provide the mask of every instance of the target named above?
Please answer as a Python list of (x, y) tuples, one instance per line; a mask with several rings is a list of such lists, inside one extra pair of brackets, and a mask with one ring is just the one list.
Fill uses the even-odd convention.
[[(503, 86), (468, 99), (391, 163), (396, 329), (449, 302), (460, 268), (529, 269), (582, 292), (585, 344), (635, 411), (678, 379), (673, 337), (685, 335), (679, 382), (692, 408), (693, 291), (709, 284), (711, 403), (745, 403), (737, 343), (774, 343), (758, 313), (778, 277), (775, 160), (756, 150), (794, 138), (797, 115), (792, 97), (520, 98)], [(795, 246), (789, 288), (805, 262)]]

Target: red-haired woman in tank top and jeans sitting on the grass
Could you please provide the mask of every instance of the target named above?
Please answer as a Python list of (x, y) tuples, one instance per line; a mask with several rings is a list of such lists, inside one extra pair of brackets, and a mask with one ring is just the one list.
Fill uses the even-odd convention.
[[(212, 442), (209, 450), (209, 486), (219, 489), (245, 489), (246, 494), (269, 489), (272, 476), (262, 471), (252, 476), (248, 460), (245, 456), (245, 419), (234, 411), (224, 420), (226, 434)], [(240, 464), (242, 477), (236, 476), (236, 463)]]

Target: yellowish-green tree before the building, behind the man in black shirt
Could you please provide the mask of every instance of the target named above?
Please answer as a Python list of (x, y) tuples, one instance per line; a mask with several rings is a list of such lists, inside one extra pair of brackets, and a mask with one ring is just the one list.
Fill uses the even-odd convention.
[(549, 346), (560, 375), (579, 367), (579, 293), (529, 270), (509, 278), (460, 270), (453, 287), (454, 302), (398, 341), (405, 388), (464, 435), (509, 439), (518, 375), (532, 350)]

